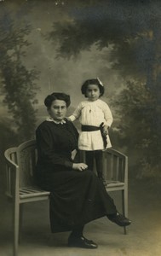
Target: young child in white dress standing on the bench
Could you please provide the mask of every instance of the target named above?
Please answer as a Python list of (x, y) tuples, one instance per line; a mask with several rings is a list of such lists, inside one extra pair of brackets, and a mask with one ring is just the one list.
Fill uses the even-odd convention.
[(105, 183), (105, 180), (102, 173), (102, 149), (112, 147), (108, 136), (108, 128), (113, 121), (110, 108), (106, 102), (100, 99), (104, 90), (104, 85), (100, 79), (86, 80), (81, 91), (88, 99), (80, 102), (78, 108), (68, 117), (71, 121), (79, 118), (82, 131), (78, 138), (78, 148), (85, 151), (86, 164), (90, 170), (94, 169), (95, 160), (97, 175), (103, 183)]

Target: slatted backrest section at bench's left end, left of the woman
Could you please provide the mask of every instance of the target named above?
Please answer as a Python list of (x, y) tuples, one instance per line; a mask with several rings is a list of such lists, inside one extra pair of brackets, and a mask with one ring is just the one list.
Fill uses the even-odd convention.
[(37, 162), (37, 144), (35, 140), (9, 148), (4, 152), (6, 160), (6, 195), (19, 195), (20, 188), (34, 184), (33, 174)]

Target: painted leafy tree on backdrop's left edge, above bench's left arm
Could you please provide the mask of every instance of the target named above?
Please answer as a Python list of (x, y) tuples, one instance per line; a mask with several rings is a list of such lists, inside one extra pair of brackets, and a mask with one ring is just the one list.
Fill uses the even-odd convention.
[[(19, 139), (30, 139), (36, 124), (37, 71), (27, 70), (24, 65), (26, 49), (29, 46), (27, 35), (31, 26), (14, 23), (9, 12), (0, 16), (0, 72), (3, 102), (8, 106)], [(21, 20), (22, 21), (22, 20)]]

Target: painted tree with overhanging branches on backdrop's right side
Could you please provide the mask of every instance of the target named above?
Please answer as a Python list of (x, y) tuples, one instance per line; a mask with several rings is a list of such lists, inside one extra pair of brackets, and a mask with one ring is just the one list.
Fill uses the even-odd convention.
[(55, 23), (49, 33), (58, 42), (58, 57), (77, 57), (93, 44), (100, 50), (112, 46), (112, 67), (127, 81), (115, 102), (118, 128), (129, 150), (140, 148), (146, 176), (161, 166), (160, 7), (159, 1), (144, 0), (72, 3), (68, 20)]

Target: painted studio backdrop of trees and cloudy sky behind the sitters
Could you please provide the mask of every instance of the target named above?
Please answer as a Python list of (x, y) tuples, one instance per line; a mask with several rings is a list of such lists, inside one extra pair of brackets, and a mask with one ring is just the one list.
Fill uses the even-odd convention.
[[(0, 157), (32, 139), (44, 97), (84, 99), (99, 77), (112, 110), (112, 147), (129, 157), (129, 177), (161, 179), (161, 3), (144, 0), (0, 0)], [(79, 123), (74, 123), (79, 129)]]

